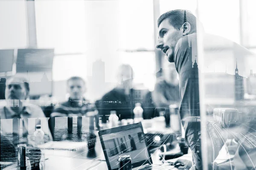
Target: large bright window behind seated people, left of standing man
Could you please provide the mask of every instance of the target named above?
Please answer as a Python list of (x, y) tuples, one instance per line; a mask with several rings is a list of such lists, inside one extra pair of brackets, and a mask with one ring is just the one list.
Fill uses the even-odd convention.
[(101, 60), (105, 69), (97, 71), (108, 84), (101, 95), (119, 83), (121, 64), (134, 68), (135, 84), (154, 87), (153, 1), (38, 0), (35, 11), (38, 48), (55, 49), (54, 81), (81, 76), (93, 88), (93, 63)]

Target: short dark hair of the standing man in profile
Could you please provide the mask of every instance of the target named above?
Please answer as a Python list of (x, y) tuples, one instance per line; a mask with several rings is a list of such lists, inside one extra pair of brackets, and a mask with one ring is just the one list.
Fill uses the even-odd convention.
[[(168, 19), (169, 23), (177, 30), (180, 30), (180, 27), (184, 23), (184, 13), (183, 9), (175, 9), (168, 11), (162, 14), (157, 20), (157, 27), (163, 22), (163, 20)], [(191, 13), (191, 11), (186, 10), (186, 22), (191, 25), (191, 29), (196, 31), (196, 17)]]

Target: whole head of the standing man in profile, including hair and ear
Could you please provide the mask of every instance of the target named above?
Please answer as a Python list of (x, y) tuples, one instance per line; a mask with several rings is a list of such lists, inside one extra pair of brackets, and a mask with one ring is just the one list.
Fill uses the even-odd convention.
[(177, 41), (196, 32), (196, 17), (190, 11), (176, 9), (162, 14), (157, 20), (157, 26), (156, 48), (160, 48), (166, 54), (169, 62), (174, 62)]

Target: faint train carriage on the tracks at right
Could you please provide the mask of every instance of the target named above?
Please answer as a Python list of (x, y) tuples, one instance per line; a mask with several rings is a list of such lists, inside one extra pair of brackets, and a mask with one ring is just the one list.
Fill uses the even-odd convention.
[(220, 123), (222, 127), (230, 127), (239, 123), (239, 112), (232, 108), (215, 108), (213, 119)]

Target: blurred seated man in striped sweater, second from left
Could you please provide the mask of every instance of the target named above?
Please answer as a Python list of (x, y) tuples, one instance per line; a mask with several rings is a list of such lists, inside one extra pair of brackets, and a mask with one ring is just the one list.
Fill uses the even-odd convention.
[[(85, 81), (81, 77), (71, 77), (67, 80), (67, 93), (70, 95), (67, 102), (61, 103), (59, 106), (55, 107), (54, 111), (51, 113), (51, 131), (54, 133), (53, 128), (55, 127), (55, 117), (68, 116), (68, 132), (72, 133), (72, 116), (78, 116), (77, 127), (81, 131), (82, 117), (92, 116), (90, 119), (90, 129), (94, 129), (94, 116), (96, 125), (99, 125), (97, 111), (94, 104), (91, 104), (84, 98), (84, 93), (86, 92)], [(92, 115), (89, 115), (92, 114)], [(80, 134), (79, 131), (79, 134)]]

